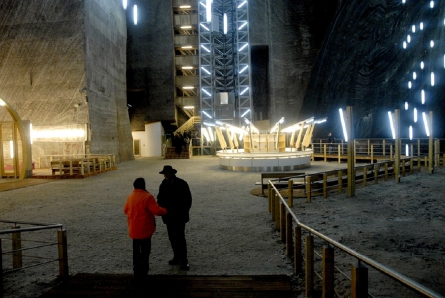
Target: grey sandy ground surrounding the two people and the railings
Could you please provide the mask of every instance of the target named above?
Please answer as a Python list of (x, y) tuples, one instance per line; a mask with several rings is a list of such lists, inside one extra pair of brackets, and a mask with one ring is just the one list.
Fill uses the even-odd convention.
[[(57, 180), (0, 192), (0, 218), (61, 223), (67, 230), (70, 275), (78, 272), (132, 274), (131, 240), (122, 212), (133, 181), (144, 177), (155, 196), (164, 164), (178, 170), (192, 191), (191, 220), (187, 224), (190, 271), (169, 266), (172, 253), (165, 226), (157, 218), (152, 239), (149, 274), (286, 274), (293, 272), (284, 244), (267, 211), (267, 198), (251, 194), (260, 173), (218, 168), (215, 157), (191, 160), (141, 158), (87, 179)], [(315, 162), (306, 172), (344, 168), (338, 163)], [(311, 203), (294, 200), (301, 222), (357, 252), (375, 259), (406, 277), (445, 294), (444, 191), (445, 168), (426, 171), (377, 185), (357, 186), (354, 197), (330, 193)], [(3, 226), (2, 229), (7, 228)], [(54, 232), (53, 232), (54, 233)], [(322, 243), (317, 245), (321, 250)], [(3, 241), (3, 251), (10, 245)], [(56, 254), (56, 253), (55, 253)], [(348, 270), (354, 259), (336, 255), (336, 264)], [(10, 269), (3, 256), (3, 268)], [(53, 286), (56, 263), (8, 274), (4, 297), (36, 297)], [(408, 297), (389, 278), (370, 270), (370, 291), (376, 297)], [(294, 278), (296, 297), (304, 297), (302, 278)], [(317, 282), (318, 283), (318, 282)], [(317, 284), (316, 283), (316, 284)], [(348, 285), (337, 291), (348, 296)]]

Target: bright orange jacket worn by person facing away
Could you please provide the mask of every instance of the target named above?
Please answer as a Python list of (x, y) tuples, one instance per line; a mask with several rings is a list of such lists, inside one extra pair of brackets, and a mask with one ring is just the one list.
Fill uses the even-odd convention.
[(127, 215), (130, 238), (147, 239), (156, 231), (154, 216), (167, 214), (167, 209), (160, 207), (148, 191), (134, 189), (127, 197), (124, 213)]

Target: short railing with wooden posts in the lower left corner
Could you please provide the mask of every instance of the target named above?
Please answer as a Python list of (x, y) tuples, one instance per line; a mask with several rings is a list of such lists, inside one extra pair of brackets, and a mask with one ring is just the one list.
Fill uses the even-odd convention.
[[(0, 224), (12, 224), (10, 229), (0, 230), (0, 293), (3, 294), (3, 276), (18, 270), (58, 262), (59, 275), (68, 277), (68, 246), (66, 230), (62, 224), (49, 224), (0, 219)], [(26, 225), (29, 227), (21, 227)], [(44, 241), (42, 238), (49, 235), (40, 235), (45, 230), (57, 230), (57, 241)], [(34, 235), (35, 238), (23, 237), (24, 234)], [(3, 250), (9, 240), (11, 249)], [(57, 257), (47, 256), (54, 252), (48, 251), (50, 247), (57, 248)], [(27, 254), (25, 254), (25, 252)], [(28, 255), (29, 254), (29, 255)], [(6, 255), (12, 256), (7, 261)]]

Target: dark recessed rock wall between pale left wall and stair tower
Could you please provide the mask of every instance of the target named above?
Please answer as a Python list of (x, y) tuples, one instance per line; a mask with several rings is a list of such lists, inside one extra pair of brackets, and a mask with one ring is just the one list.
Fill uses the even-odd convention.
[(153, 121), (175, 120), (172, 2), (139, 0), (140, 17), (127, 11), (127, 89), (132, 130)]

